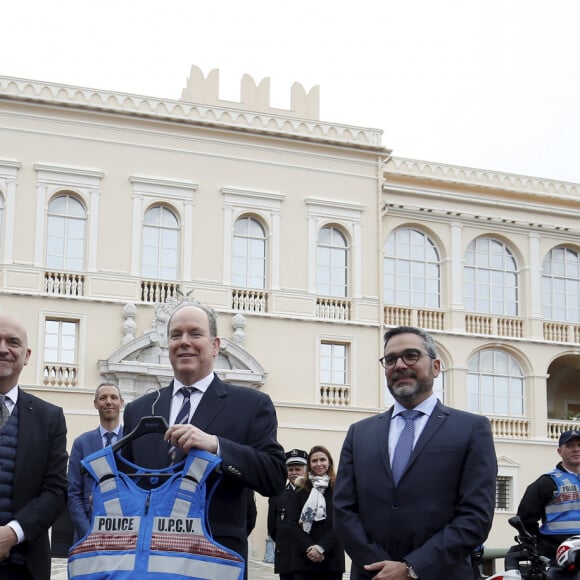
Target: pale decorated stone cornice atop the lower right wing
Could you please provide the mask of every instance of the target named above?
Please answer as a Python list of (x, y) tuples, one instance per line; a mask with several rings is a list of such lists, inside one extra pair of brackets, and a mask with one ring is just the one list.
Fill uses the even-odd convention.
[(580, 184), (577, 183), (401, 157), (392, 157), (385, 166), (387, 181), (389, 175), (513, 191), (559, 200), (580, 200)]

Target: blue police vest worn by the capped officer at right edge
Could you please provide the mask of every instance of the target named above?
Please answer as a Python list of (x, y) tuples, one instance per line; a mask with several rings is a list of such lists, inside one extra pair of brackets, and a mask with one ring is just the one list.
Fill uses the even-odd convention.
[(566, 471), (554, 469), (548, 473), (558, 489), (546, 506), (546, 521), (540, 526), (542, 534), (580, 534), (580, 478)]

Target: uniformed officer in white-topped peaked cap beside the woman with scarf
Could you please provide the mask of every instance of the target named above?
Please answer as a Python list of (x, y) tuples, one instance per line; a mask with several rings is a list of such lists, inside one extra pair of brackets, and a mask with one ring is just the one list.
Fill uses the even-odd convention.
[(292, 580), (292, 546), (296, 522), (290, 519), (290, 503), (296, 490), (294, 482), (306, 477), (308, 453), (303, 449), (292, 449), (286, 453), (288, 481), (286, 489), (268, 500), (268, 535), (276, 544), (274, 547), (274, 572), (280, 580)]

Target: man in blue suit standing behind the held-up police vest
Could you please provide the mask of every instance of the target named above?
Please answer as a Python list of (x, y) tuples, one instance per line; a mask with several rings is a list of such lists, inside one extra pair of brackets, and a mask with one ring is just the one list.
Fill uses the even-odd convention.
[(123, 436), (123, 427), (120, 424), (123, 396), (119, 387), (112, 383), (101, 383), (95, 391), (93, 404), (99, 412), (100, 424), (96, 429), (87, 431), (74, 440), (68, 465), (68, 509), (74, 526), (75, 541), (89, 531), (94, 486), (93, 478), (88, 473), (83, 473), (81, 460)]

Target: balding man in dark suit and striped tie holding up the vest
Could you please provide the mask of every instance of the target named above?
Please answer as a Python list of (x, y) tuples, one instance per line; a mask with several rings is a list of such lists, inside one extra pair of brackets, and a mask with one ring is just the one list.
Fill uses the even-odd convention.
[(173, 382), (128, 403), (124, 414), (126, 434), (142, 417), (162, 415), (170, 425), (165, 441), (161, 435), (147, 434), (124, 453), (149, 469), (169, 465), (175, 451), (197, 448), (219, 455), (223, 478), (211, 499), (209, 523), (218, 542), (246, 559), (247, 490), (269, 497), (280, 493), (286, 480), (274, 406), (264, 393), (225, 384), (214, 374), (220, 339), (215, 313), (208, 306), (179, 307), (169, 319), (167, 336)]

